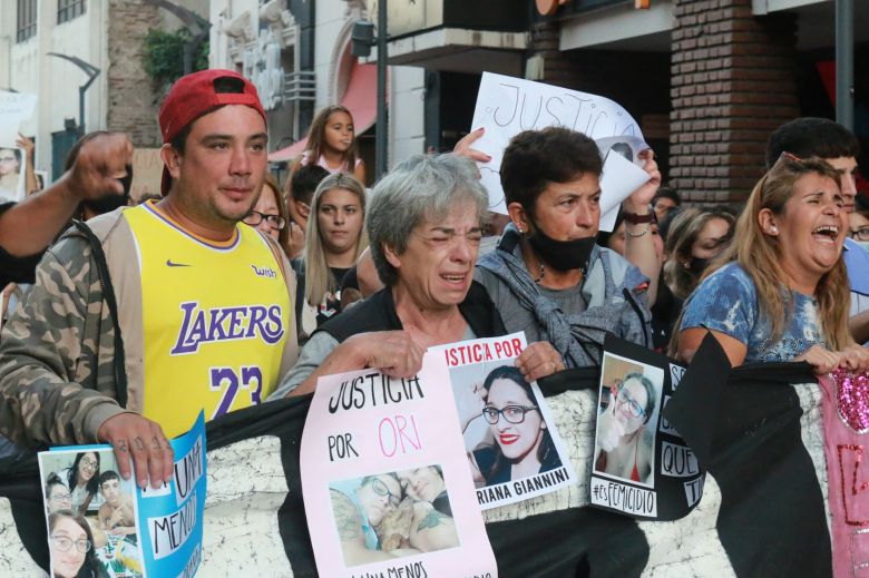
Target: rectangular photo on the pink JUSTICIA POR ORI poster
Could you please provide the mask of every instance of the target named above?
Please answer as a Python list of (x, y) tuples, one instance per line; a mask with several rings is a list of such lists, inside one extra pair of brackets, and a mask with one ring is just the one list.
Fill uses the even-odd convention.
[(460, 546), (440, 466), (384, 472), (329, 484), (344, 565), (378, 553), (403, 558)]

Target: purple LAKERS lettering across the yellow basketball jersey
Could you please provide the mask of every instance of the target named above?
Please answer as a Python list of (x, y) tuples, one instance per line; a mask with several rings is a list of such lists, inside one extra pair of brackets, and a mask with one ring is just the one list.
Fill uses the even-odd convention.
[(262, 339), (268, 344), (284, 336), (280, 305), (242, 305), (201, 308), (192, 301), (180, 304), (184, 312), (178, 340), (170, 355), (195, 353), (202, 343)]

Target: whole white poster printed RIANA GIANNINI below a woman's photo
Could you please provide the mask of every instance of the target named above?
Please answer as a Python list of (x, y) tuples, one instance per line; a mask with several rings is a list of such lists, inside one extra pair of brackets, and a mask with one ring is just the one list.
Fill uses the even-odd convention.
[(514, 365), (525, 335), (438, 347), (450, 382), (469, 466), (484, 509), (554, 491), (574, 478), (536, 383)]

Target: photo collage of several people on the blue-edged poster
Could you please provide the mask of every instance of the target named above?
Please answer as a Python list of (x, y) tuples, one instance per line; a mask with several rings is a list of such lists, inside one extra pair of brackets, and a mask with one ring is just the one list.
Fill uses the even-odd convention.
[(135, 487), (118, 474), (114, 452), (42, 452), (39, 468), (51, 575), (143, 576)]

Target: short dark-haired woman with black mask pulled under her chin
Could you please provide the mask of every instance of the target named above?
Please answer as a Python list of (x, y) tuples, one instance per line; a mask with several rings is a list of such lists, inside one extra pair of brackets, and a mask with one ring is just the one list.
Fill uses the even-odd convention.
[[(661, 175), (652, 151), (644, 157), (651, 179), (623, 207), (633, 245), (626, 253), (660, 267), (648, 200)], [(599, 364), (607, 332), (651, 346), (648, 278), (595, 244), (602, 169), (597, 145), (583, 134), (549, 127), (516, 135), (500, 168), (511, 223), (475, 275), (507, 330), (525, 331), (529, 342), (549, 341), (567, 368)]]

